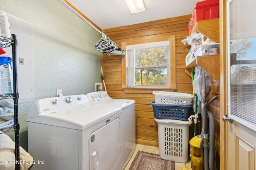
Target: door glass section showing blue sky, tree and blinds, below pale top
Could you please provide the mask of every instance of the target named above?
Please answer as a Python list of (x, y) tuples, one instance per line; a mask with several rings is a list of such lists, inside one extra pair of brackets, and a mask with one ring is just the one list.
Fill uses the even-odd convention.
[(231, 114), (255, 123), (256, 115), (256, 38), (231, 40)]

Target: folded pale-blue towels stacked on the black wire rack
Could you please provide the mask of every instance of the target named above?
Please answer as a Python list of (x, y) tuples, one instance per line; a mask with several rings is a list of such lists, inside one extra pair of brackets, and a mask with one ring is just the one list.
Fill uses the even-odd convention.
[(13, 104), (6, 101), (0, 100), (0, 118), (5, 120), (11, 120), (14, 118)]

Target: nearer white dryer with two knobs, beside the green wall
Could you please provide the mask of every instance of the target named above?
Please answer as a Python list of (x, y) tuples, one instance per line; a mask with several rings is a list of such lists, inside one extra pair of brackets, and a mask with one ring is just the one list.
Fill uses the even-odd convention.
[(121, 170), (121, 112), (86, 95), (38, 100), (27, 118), (33, 169)]

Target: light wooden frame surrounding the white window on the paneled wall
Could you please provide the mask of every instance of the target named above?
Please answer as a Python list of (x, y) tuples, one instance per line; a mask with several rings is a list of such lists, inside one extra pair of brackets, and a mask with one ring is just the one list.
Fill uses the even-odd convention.
[[(126, 93), (152, 93), (152, 90), (176, 90), (176, 36), (175, 35), (150, 35), (144, 37), (131, 38), (121, 43), (122, 49), (126, 51), (126, 45), (136, 45), (159, 41), (170, 42), (170, 78), (167, 87), (127, 87), (126, 86), (126, 55), (122, 57), (122, 90)], [(126, 54), (126, 53), (125, 53)]]

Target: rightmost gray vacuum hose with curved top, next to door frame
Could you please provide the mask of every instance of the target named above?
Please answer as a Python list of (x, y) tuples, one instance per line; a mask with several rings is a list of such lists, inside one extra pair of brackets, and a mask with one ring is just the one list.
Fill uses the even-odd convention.
[(215, 121), (212, 112), (208, 111), (210, 120), (210, 137), (209, 137), (209, 168), (214, 170), (214, 141), (215, 141)]

